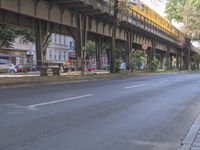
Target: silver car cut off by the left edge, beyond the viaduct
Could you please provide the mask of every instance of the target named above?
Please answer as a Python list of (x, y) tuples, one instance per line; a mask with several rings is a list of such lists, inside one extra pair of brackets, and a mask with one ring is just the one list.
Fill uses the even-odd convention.
[(0, 59), (0, 73), (16, 73), (16, 67), (9, 60)]

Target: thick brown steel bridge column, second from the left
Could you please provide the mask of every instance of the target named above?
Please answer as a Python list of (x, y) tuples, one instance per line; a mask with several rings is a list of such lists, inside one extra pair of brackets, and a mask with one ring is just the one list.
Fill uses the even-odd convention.
[(88, 31), (88, 17), (79, 14), (78, 29), (74, 33), (76, 49), (76, 67), (78, 70), (86, 69), (86, 43)]

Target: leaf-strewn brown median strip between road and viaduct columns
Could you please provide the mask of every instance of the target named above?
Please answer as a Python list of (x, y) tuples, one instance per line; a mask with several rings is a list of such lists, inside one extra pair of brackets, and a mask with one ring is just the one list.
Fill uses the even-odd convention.
[(83, 82), (92, 80), (104, 80), (114, 78), (126, 78), (126, 77), (142, 77), (161, 74), (172, 74), (183, 72), (123, 72), (114, 74), (85, 74), (85, 75), (61, 75), (61, 76), (20, 76), (20, 77), (1, 77), (0, 87), (21, 86), (21, 85), (34, 85), (34, 84), (53, 84), (53, 83), (72, 83)]

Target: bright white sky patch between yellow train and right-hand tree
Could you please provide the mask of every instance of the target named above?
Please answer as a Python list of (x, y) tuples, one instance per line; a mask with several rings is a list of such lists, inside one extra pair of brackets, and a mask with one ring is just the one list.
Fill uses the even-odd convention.
[(161, 16), (165, 15), (165, 4), (166, 0), (141, 0), (143, 3), (147, 4), (150, 8), (155, 10)]

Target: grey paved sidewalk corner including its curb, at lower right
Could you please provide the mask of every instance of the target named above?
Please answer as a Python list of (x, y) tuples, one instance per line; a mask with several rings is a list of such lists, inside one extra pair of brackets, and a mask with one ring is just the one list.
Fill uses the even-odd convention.
[(200, 150), (200, 114), (194, 121), (178, 150)]

